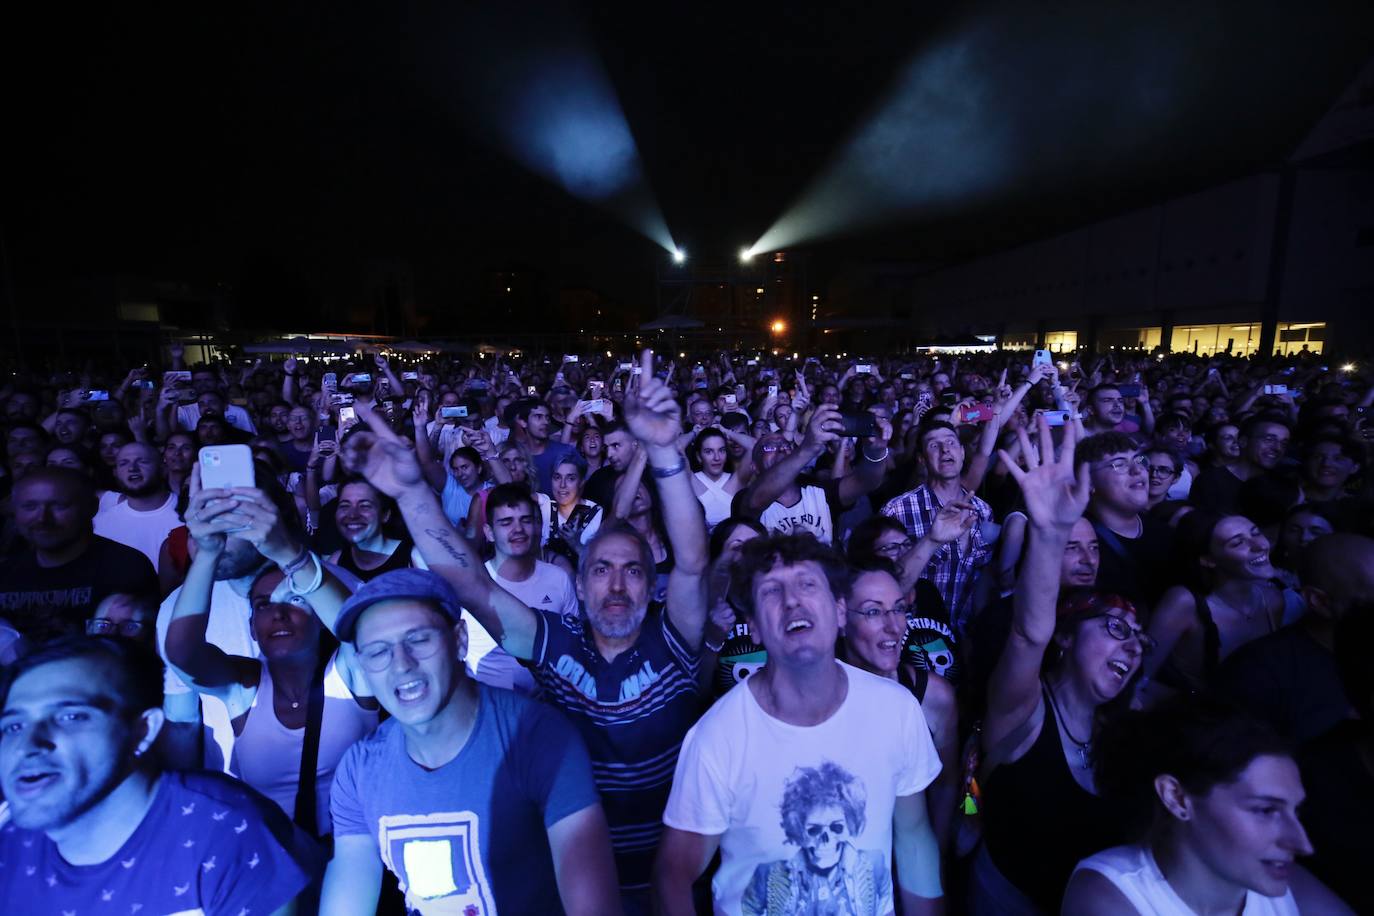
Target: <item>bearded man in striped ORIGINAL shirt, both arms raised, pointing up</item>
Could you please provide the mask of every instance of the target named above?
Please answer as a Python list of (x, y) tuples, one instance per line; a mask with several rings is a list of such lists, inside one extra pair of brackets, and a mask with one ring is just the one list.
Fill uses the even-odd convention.
[[(673, 570), (662, 607), (650, 607), (654, 559), (627, 525), (605, 525), (581, 556), (584, 612), (532, 610), (492, 581), (444, 518), (414, 453), (365, 408), (375, 442), (354, 437), (348, 460), (393, 496), (425, 563), (458, 591), (473, 617), (515, 658), (528, 659), (545, 699), (577, 726), (606, 805), (621, 894), (647, 912), (649, 872), (672, 768), (701, 709), (697, 666), (706, 623), (706, 527), (677, 450), (682, 408), (642, 357), (643, 380), (627, 393), (627, 428), (646, 450), (658, 485)], [(365, 452), (364, 452), (365, 449)]]

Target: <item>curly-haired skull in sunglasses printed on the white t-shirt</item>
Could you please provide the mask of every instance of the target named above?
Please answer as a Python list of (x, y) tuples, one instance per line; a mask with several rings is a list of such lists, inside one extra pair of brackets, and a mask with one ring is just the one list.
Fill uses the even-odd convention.
[(790, 858), (754, 868), (741, 901), (746, 916), (878, 916), (892, 908), (882, 850), (859, 849), (866, 827), (863, 781), (838, 764), (798, 766), (783, 784), (782, 829)]

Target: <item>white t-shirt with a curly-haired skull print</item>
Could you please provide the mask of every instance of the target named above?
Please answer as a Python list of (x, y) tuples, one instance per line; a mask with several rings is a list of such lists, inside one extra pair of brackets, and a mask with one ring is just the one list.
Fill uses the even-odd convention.
[(719, 915), (893, 911), (893, 806), (940, 758), (907, 688), (835, 663), (849, 692), (820, 725), (768, 715), (745, 681), (683, 740), (664, 823), (720, 836)]

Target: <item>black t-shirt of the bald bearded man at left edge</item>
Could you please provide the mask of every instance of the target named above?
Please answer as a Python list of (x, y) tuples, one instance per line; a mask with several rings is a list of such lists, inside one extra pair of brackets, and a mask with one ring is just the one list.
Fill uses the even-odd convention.
[(38, 566), (34, 552), (0, 566), (0, 617), (33, 643), (80, 633), (96, 606), (114, 593), (158, 596), (158, 577), (142, 552), (98, 534), (62, 566)]

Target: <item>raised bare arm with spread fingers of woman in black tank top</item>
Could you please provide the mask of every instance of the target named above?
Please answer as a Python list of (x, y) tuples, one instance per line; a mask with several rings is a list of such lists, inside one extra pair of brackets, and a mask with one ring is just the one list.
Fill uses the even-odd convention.
[(1026, 556), (1017, 578), (1011, 603), (1011, 632), (988, 683), (988, 713), (982, 722), (982, 744), (998, 747), (1021, 728), (1040, 703), (1040, 665), (1054, 637), (1055, 604), (1059, 597), (1059, 566), (1069, 533), (1088, 505), (1088, 467), (1073, 471), (1077, 435), (1063, 431), (1063, 448), (1054, 457), (1050, 424), (1039, 419), (1040, 449), (1032, 448), (1025, 431), (1021, 452), (1029, 470), (1021, 470), (1000, 452), (1011, 477), (1025, 497), (1028, 525)]

